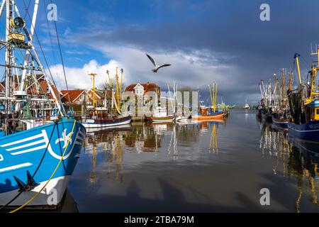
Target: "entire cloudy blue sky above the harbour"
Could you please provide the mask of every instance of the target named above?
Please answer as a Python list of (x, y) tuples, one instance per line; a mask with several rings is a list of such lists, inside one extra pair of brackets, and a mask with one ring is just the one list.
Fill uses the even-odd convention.
[[(29, 0), (24, 0), (28, 4)], [(33, 1), (32, 1), (33, 2)], [(47, 21), (41, 1), (38, 36), (52, 74), (65, 87), (54, 23)], [(255, 104), (260, 79), (273, 79), (281, 68), (291, 70), (293, 54), (310, 66), (310, 44), (319, 43), (319, 1), (313, 0), (55, 0), (57, 28), (72, 88), (89, 88), (86, 75), (96, 72), (98, 85), (106, 70), (123, 68), (125, 84), (156, 82), (166, 88), (201, 89), (218, 83), (228, 104)], [(261, 21), (261, 4), (270, 6), (270, 21)], [(24, 9), (23, 1), (17, 1)], [(32, 9), (33, 4), (30, 4)], [(170, 63), (156, 74), (145, 56)], [(306, 77), (306, 74), (305, 74)]]

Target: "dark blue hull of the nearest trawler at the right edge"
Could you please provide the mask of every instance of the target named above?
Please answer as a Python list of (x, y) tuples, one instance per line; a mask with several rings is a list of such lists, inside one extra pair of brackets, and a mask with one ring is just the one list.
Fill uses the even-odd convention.
[(310, 121), (303, 124), (288, 123), (289, 135), (303, 140), (319, 141), (319, 121)]

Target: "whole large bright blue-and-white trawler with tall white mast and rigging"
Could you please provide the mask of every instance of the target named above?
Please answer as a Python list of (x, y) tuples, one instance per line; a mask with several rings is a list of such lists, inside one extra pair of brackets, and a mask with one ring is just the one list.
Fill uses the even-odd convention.
[[(1, 1), (0, 6), (0, 17), (5, 16), (6, 21), (6, 38), (0, 40), (0, 51), (5, 50), (0, 52), (5, 58), (1, 64), (5, 91), (0, 96), (4, 105), (0, 116), (0, 209), (17, 208), (12, 212), (26, 206), (43, 209), (60, 204), (86, 133), (80, 122), (65, 115), (59, 92), (33, 45), (38, 6), (39, 0), (35, 0), (32, 22), (31, 18), (28, 21), (30, 31), (15, 1)], [(22, 55), (22, 62), (16, 53)], [(34, 109), (57, 109), (58, 115), (52, 121), (50, 116), (37, 116)], [(52, 194), (55, 201), (50, 201)]]

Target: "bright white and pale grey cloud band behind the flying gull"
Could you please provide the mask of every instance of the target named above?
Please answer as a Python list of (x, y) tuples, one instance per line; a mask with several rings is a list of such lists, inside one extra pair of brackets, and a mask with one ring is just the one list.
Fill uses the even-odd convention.
[[(152, 63), (145, 56), (145, 50), (140, 48), (116, 45), (100, 45), (99, 49), (104, 55), (111, 57), (109, 62), (99, 65), (96, 60), (83, 65), (83, 67), (66, 67), (67, 82), (69, 88), (87, 89), (91, 87), (91, 79), (87, 74), (96, 72), (96, 87), (100, 87), (108, 79), (106, 70), (115, 74), (116, 67), (123, 68), (123, 83), (155, 82), (163, 89), (167, 89), (167, 83), (172, 84), (176, 81), (179, 87), (190, 86), (194, 89), (201, 88), (208, 90), (207, 85), (214, 82), (218, 83), (218, 91), (223, 93), (224, 100), (227, 95), (234, 94), (237, 89), (237, 97), (240, 97), (240, 89), (250, 89), (242, 83), (242, 77), (237, 76), (235, 65), (223, 64), (220, 59), (231, 60), (232, 56), (222, 56), (219, 53), (212, 53), (208, 50), (194, 50), (190, 52), (150, 52), (157, 63), (172, 64), (170, 67), (160, 69), (157, 73), (152, 72)], [(64, 84), (62, 66), (55, 65), (51, 68), (60, 74), (60, 81)], [(55, 76), (56, 77), (56, 76)], [(242, 84), (241, 87), (238, 84)], [(57, 84), (59, 86), (59, 84)], [(65, 89), (65, 86), (61, 86)], [(244, 94), (242, 94), (244, 95)], [(245, 101), (245, 97), (240, 97)], [(227, 101), (227, 100), (225, 100)]]

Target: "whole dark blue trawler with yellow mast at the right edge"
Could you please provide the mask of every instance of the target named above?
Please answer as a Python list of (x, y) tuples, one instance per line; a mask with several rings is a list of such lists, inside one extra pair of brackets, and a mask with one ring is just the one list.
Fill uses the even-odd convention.
[(289, 111), (291, 120), (288, 123), (289, 135), (304, 140), (319, 141), (319, 91), (315, 84), (317, 72), (319, 70), (319, 46), (317, 52), (311, 53), (317, 55), (318, 60), (312, 63), (311, 70), (308, 72), (308, 82), (303, 84), (298, 58), (295, 54), (294, 59), (298, 70), (298, 87), (289, 88)]

